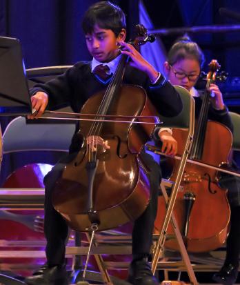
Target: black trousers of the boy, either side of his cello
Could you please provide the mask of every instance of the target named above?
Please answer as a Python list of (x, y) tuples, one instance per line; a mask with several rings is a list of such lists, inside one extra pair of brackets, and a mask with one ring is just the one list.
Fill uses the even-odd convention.
[[(46, 175), (44, 184), (45, 215), (44, 233), (47, 239), (46, 257), (48, 265), (59, 265), (65, 262), (66, 239), (68, 237), (68, 225), (63, 217), (52, 206), (52, 190), (57, 179), (61, 176), (63, 168), (72, 161), (75, 154), (63, 157)], [(132, 254), (149, 255), (152, 245), (152, 232), (154, 219), (157, 215), (157, 197), (161, 182), (161, 170), (157, 162), (146, 153), (142, 153), (144, 163), (149, 168), (151, 199), (144, 213), (134, 222), (132, 230)]]

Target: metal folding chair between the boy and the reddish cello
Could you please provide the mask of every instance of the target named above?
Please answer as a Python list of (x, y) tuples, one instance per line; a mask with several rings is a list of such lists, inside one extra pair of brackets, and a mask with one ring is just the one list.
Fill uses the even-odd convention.
[[(175, 88), (179, 92), (179, 95), (181, 96), (181, 99), (183, 101), (183, 110), (176, 117), (169, 118), (160, 115), (160, 119), (161, 121), (163, 121), (162, 125), (163, 127), (180, 128), (186, 130), (186, 140), (183, 146), (181, 162), (179, 163), (179, 166), (176, 170), (177, 171), (176, 181), (172, 183), (171, 181), (166, 181), (163, 179), (163, 181), (161, 182), (160, 188), (161, 192), (163, 193), (163, 197), (166, 200), (167, 209), (166, 209), (166, 217), (163, 221), (163, 226), (161, 228), (161, 233), (159, 234), (157, 244), (155, 245), (153, 251), (152, 271), (153, 273), (155, 273), (158, 264), (161, 264), (161, 262), (159, 262), (159, 257), (161, 256), (161, 253), (163, 251), (163, 246), (167, 235), (168, 224), (171, 221), (174, 228), (174, 234), (177, 237), (177, 242), (179, 243), (181, 256), (183, 258), (183, 261), (186, 265), (186, 269), (188, 271), (188, 275), (190, 277), (190, 281), (193, 284), (197, 284), (197, 279), (194, 275), (194, 271), (192, 269), (188, 253), (186, 251), (186, 247), (184, 246), (183, 239), (179, 231), (179, 227), (177, 226), (176, 219), (174, 217), (174, 214), (172, 213), (172, 210), (174, 208), (174, 202), (176, 201), (177, 192), (179, 190), (181, 178), (183, 175), (183, 170), (186, 166), (188, 154), (190, 153), (190, 148), (192, 145), (192, 139), (194, 134), (194, 99), (192, 98), (188, 90), (186, 90), (185, 88), (182, 88), (181, 86), (175, 86)], [(161, 153), (159, 152), (159, 150), (157, 150), (156, 147), (148, 145), (147, 148), (148, 150), (152, 150), (154, 153)], [(166, 188), (172, 188), (172, 192), (169, 199), (166, 192)]]

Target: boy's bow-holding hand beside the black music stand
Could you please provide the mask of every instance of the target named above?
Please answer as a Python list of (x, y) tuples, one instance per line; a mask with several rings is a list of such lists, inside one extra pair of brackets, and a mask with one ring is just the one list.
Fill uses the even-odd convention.
[(48, 106), (48, 95), (45, 92), (39, 91), (31, 97), (32, 109), (36, 112), (32, 115), (28, 115), (28, 119), (37, 119), (43, 115), (46, 107)]

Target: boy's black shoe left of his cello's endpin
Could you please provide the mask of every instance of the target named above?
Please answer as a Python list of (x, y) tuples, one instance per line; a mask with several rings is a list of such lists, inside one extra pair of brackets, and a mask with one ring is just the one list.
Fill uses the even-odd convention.
[(43, 265), (32, 276), (26, 277), (25, 282), (28, 285), (68, 285), (66, 266)]

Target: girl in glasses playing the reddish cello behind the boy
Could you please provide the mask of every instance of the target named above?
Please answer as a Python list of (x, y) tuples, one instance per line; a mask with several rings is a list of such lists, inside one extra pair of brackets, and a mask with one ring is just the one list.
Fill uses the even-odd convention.
[[(168, 52), (168, 60), (164, 63), (164, 68), (169, 81), (178, 86), (186, 88), (190, 95), (194, 97), (196, 113), (199, 117), (201, 108), (201, 95), (194, 88), (199, 78), (204, 62), (204, 55), (197, 43), (188, 37), (177, 40)], [(232, 122), (228, 114), (228, 108), (223, 103), (223, 96), (216, 84), (210, 84), (211, 92), (210, 109), (208, 119), (218, 121), (227, 126), (232, 131)], [(159, 129), (155, 130), (158, 132)], [(164, 149), (164, 146), (163, 146)], [(163, 150), (162, 149), (162, 150)], [(240, 187), (234, 177), (221, 179), (221, 185), (228, 188), (228, 200), (231, 207), (230, 233), (227, 239), (226, 259), (219, 273), (214, 274), (212, 279), (215, 282), (232, 285), (236, 282), (239, 268), (240, 253)]]

